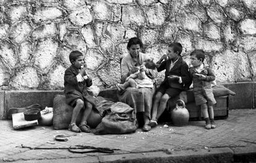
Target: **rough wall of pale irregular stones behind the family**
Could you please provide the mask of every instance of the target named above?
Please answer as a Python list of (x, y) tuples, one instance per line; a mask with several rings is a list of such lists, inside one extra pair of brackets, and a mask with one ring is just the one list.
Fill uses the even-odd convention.
[[(218, 82), (255, 81), (255, 0), (1, 0), (0, 88), (63, 89), (71, 50), (85, 54), (93, 83), (120, 81), (129, 38), (155, 58), (181, 42), (189, 64), (207, 52)], [(158, 82), (163, 78), (160, 73)]]

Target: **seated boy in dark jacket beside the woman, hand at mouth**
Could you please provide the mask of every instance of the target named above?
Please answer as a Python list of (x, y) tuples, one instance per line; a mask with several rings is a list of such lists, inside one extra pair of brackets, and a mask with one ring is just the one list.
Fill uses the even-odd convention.
[(157, 71), (165, 70), (165, 78), (157, 90), (153, 101), (150, 125), (155, 127), (157, 119), (161, 116), (169, 98), (174, 98), (185, 85), (190, 83), (189, 66), (181, 57), (182, 46), (179, 42), (169, 44), (167, 55), (163, 55), (156, 62)]

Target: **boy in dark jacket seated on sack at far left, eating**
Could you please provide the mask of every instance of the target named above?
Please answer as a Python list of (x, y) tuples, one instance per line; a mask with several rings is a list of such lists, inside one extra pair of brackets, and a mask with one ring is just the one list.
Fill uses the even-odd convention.
[[(69, 130), (72, 132), (90, 132), (87, 125), (87, 118), (90, 115), (95, 98), (87, 92), (87, 87), (92, 85), (92, 79), (88, 78), (85, 72), (83, 54), (79, 51), (72, 51), (69, 54), (72, 65), (67, 68), (64, 74), (64, 94), (67, 104), (74, 106)], [(80, 110), (84, 109), (79, 127), (75, 124)]]

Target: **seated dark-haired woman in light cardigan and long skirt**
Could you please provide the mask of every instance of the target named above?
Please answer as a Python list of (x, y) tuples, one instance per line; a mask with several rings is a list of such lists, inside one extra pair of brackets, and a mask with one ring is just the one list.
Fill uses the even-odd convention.
[[(121, 81), (124, 83), (126, 78), (130, 76), (130, 74), (137, 73), (140, 71), (145, 71), (145, 74), (150, 78), (154, 79), (157, 77), (157, 70), (147, 69), (144, 62), (151, 60), (148, 55), (143, 54), (140, 52), (143, 44), (139, 38), (131, 38), (127, 44), (127, 50), (129, 52), (124, 58), (122, 58), (121, 62)], [(139, 68), (138, 68), (139, 66)], [(152, 97), (155, 93), (155, 88), (134, 88), (128, 87), (126, 90), (119, 93), (119, 100), (123, 103), (127, 103), (132, 108), (135, 109), (136, 113), (142, 112), (143, 113), (143, 130), (149, 131), (151, 129), (149, 121), (150, 111), (152, 106)]]

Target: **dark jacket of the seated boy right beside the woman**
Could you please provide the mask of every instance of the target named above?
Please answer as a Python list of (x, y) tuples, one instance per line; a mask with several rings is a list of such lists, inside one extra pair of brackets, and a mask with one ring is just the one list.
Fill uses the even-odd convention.
[[(171, 70), (169, 70), (170, 66), (171, 66), (171, 60), (166, 60), (162, 62), (161, 65), (157, 68), (158, 72), (166, 70), (165, 78), (162, 84), (164, 82), (168, 82), (169, 87), (172, 87), (175, 89), (181, 89), (181, 90), (186, 89), (185, 85), (191, 84), (191, 80), (189, 76), (189, 66), (187, 65), (187, 63), (184, 62), (184, 60), (181, 57), (179, 57), (179, 59), (174, 64), (173, 68), (171, 68)], [(181, 76), (182, 83), (179, 83), (179, 80), (170, 81), (168, 79), (168, 76), (171, 76), (171, 75)]]

